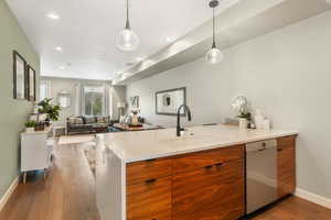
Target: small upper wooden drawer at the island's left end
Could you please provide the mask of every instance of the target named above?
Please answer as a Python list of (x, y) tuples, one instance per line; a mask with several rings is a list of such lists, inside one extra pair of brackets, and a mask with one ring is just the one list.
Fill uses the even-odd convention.
[(171, 158), (158, 158), (127, 165), (127, 185), (171, 175)]

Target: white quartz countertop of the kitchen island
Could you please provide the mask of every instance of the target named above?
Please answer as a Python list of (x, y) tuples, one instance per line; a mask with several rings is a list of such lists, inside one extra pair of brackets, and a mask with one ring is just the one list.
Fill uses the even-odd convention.
[[(191, 135), (193, 134), (193, 135)], [(285, 130), (245, 130), (237, 127), (212, 125), (188, 128), (183, 136), (175, 129), (98, 134), (102, 142), (125, 163), (160, 158), (236, 144), (298, 134)]]

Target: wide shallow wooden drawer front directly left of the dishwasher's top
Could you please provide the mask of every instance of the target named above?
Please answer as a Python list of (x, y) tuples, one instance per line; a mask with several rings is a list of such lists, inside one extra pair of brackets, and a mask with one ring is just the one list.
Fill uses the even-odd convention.
[(244, 158), (244, 145), (237, 145), (179, 156), (173, 158), (172, 168), (173, 173), (178, 174), (242, 158)]

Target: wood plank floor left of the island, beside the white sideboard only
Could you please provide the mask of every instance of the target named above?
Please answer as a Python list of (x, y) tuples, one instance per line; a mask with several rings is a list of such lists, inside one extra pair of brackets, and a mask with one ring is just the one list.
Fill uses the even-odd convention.
[(83, 150), (55, 147), (53, 167), (43, 175), (28, 175), (0, 212), (0, 220), (99, 220), (94, 177)]

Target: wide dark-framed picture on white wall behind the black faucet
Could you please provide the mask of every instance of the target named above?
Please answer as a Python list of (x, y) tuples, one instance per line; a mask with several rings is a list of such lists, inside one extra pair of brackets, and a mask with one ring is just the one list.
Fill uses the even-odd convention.
[[(156, 113), (164, 116), (177, 116), (178, 108), (186, 105), (186, 88), (175, 88), (156, 92)], [(181, 116), (185, 116), (184, 109)]]

